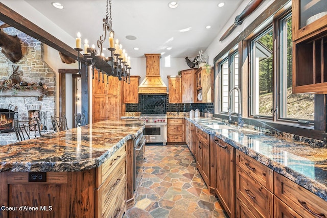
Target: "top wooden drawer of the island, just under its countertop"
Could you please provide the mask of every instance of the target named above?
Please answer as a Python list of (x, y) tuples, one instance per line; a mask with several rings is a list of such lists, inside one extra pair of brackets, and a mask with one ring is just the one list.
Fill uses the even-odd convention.
[(111, 174), (112, 169), (120, 158), (126, 155), (126, 144), (124, 144), (116, 153), (108, 160), (96, 168), (96, 188), (99, 188), (106, 178)]

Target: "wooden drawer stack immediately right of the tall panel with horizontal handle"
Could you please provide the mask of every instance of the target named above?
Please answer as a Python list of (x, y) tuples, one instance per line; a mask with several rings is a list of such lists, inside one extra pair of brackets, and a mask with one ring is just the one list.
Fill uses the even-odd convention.
[[(273, 171), (236, 151), (236, 196), (255, 217), (273, 217)], [(237, 209), (240, 209), (239, 206)], [(241, 212), (237, 212), (241, 213)]]

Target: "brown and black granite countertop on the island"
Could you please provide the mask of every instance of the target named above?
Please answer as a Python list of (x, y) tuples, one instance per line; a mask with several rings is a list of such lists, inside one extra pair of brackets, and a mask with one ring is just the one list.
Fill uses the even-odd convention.
[(107, 120), (0, 146), (0, 172), (83, 171), (100, 166), (145, 128), (142, 120)]

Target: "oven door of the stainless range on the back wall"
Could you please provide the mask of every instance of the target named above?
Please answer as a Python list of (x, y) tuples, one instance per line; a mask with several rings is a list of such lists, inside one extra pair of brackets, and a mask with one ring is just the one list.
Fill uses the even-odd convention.
[(146, 124), (143, 134), (147, 143), (167, 142), (167, 124)]

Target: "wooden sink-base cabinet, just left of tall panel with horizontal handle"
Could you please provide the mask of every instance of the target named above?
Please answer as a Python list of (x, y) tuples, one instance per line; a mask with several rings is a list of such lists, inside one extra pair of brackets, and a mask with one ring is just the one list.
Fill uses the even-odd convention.
[(196, 166), (207, 187), (210, 186), (209, 134), (196, 128)]

